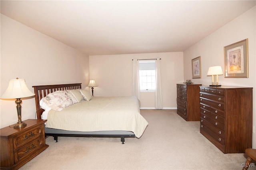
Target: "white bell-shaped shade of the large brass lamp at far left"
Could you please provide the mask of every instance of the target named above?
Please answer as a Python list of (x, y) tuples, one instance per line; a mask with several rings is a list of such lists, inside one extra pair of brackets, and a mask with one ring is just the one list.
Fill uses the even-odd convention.
[(7, 90), (1, 96), (2, 99), (20, 99), (34, 96), (26, 86), (25, 79), (10, 79)]

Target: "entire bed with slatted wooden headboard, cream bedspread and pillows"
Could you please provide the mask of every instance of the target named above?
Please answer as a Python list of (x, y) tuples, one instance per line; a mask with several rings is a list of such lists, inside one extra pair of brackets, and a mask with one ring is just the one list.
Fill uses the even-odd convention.
[[(37, 119), (48, 120), (45, 124), (45, 134), (54, 137), (56, 142), (58, 136), (120, 137), (124, 144), (125, 137), (140, 138), (148, 125), (140, 115), (139, 101), (134, 96), (88, 97), (88, 94), (81, 89), (81, 83), (33, 86), (33, 88)], [(78, 95), (75, 94), (73, 96), (78, 102), (68, 107), (63, 106), (61, 110), (58, 110), (59, 106), (56, 108), (51, 106), (48, 109), (42, 104), (42, 101), (48, 102), (49, 96), (63, 92), (74, 94), (77, 91), (81, 92), (82, 99), (85, 100), (79, 101)], [(50, 101), (53, 103), (52, 100)]]

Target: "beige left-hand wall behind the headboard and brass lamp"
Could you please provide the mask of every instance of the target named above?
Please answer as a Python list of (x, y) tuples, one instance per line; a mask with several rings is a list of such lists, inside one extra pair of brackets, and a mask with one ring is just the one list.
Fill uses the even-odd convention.
[[(9, 79), (24, 78), (28, 88), (89, 82), (89, 57), (1, 14), (0, 95)], [(0, 100), (0, 127), (17, 122), (15, 100)], [(22, 120), (35, 119), (35, 100), (22, 99)]]

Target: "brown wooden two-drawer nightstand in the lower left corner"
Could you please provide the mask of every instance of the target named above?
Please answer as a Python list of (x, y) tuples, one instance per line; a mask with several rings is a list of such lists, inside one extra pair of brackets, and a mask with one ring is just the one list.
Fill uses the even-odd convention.
[(44, 123), (47, 120), (28, 119), (26, 127), (0, 129), (1, 170), (18, 169), (49, 145), (45, 144)]

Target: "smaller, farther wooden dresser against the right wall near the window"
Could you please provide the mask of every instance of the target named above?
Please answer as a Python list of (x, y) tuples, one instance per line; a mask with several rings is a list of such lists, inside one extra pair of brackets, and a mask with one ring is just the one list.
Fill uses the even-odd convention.
[(186, 121), (200, 121), (199, 92), (202, 84), (177, 84), (177, 114)]

